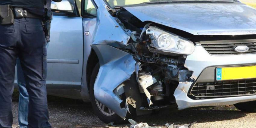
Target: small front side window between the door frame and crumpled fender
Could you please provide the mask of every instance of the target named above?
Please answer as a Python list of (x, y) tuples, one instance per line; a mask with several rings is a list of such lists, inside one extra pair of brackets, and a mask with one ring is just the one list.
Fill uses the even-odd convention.
[(91, 0), (85, 0), (84, 2), (84, 14), (89, 16), (97, 16), (97, 9)]

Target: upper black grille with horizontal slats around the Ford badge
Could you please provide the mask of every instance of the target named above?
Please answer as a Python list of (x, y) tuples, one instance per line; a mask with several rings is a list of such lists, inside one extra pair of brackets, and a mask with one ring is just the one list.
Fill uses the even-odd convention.
[[(204, 49), (212, 55), (239, 55), (239, 54), (255, 54), (256, 41), (230, 41), (230, 42), (201, 42)], [(249, 51), (239, 53), (234, 50), (236, 46), (245, 45), (249, 47)]]

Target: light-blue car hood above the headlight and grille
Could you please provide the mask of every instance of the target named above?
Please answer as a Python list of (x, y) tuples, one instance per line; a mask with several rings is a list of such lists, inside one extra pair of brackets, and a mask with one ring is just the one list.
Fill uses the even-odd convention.
[(125, 9), (142, 22), (159, 23), (193, 35), (256, 34), (256, 10), (242, 3), (182, 3)]

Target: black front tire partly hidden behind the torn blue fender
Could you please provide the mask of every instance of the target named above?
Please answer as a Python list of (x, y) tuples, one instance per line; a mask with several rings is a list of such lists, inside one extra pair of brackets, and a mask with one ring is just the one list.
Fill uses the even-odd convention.
[[(98, 118), (104, 122), (104, 123), (115, 123), (115, 124), (119, 124), (119, 123), (124, 123), (124, 120), (119, 117), (117, 114), (106, 114), (104, 112), (102, 112), (102, 110), (98, 107), (100, 105), (100, 103), (98, 101), (95, 100), (94, 97), (94, 83), (96, 80), (96, 77), (98, 75), (98, 71), (99, 71), (99, 64), (96, 64), (96, 66), (94, 67), (93, 71), (92, 71), (92, 76), (91, 76), (91, 80), (90, 80), (90, 98), (91, 98), (91, 103), (92, 103), (92, 108), (93, 111), (95, 113), (96, 116), (98, 116)], [(98, 105), (97, 105), (98, 103)], [(102, 105), (103, 106), (103, 105)], [(108, 108), (106, 108), (108, 109)], [(109, 112), (110, 113), (110, 112)]]

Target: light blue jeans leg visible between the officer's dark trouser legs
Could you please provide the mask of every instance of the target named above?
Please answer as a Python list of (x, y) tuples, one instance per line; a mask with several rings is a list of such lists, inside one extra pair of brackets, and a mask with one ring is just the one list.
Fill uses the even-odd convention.
[(19, 126), (20, 128), (27, 128), (28, 125), (28, 92), (26, 89), (26, 82), (23, 74), (23, 70), (20, 65), (20, 60), (17, 59), (17, 78), (18, 78), (18, 86), (20, 91), (20, 99), (19, 99)]

